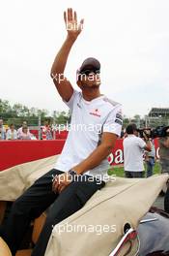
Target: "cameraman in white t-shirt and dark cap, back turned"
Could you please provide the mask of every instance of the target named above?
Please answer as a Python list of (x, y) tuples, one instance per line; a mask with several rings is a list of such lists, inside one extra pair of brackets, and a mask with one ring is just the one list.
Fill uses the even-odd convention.
[(138, 138), (137, 127), (134, 123), (127, 126), (127, 138), (124, 140), (124, 169), (126, 177), (144, 177), (144, 150), (151, 151), (149, 139), (145, 142)]

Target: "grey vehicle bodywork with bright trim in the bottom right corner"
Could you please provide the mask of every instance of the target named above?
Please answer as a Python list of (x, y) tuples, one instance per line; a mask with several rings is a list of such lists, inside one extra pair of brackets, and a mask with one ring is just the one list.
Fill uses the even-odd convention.
[(169, 214), (164, 210), (151, 208), (136, 230), (126, 229), (109, 256), (169, 256)]

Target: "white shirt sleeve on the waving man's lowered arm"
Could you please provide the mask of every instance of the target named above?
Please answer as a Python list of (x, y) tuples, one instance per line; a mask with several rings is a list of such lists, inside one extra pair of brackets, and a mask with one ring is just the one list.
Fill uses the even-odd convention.
[(118, 105), (112, 112), (109, 113), (106, 121), (103, 124), (103, 133), (114, 133), (118, 136), (121, 136), (123, 125), (123, 114), (122, 106)]

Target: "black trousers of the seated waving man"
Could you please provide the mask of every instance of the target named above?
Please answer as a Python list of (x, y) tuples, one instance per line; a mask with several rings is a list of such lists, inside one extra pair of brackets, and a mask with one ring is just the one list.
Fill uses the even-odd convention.
[(13, 204), (12, 211), (5, 225), (0, 229), (2, 237), (9, 245), (12, 254), (18, 250), (31, 220), (39, 217), (51, 204), (40, 238), (35, 245), (32, 256), (43, 256), (52, 228), (72, 213), (82, 208), (91, 196), (105, 183), (90, 176), (82, 176), (72, 181), (60, 194), (52, 191), (52, 176), (63, 172), (52, 169), (40, 177)]

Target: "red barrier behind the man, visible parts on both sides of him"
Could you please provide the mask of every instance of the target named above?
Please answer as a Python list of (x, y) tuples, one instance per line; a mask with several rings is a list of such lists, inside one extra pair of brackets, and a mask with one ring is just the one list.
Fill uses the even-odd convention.
[[(60, 154), (65, 140), (51, 141), (0, 141), (0, 171), (15, 165)], [(158, 141), (155, 139), (156, 158), (159, 158)], [(110, 165), (124, 163), (123, 140), (117, 140), (108, 157)]]

